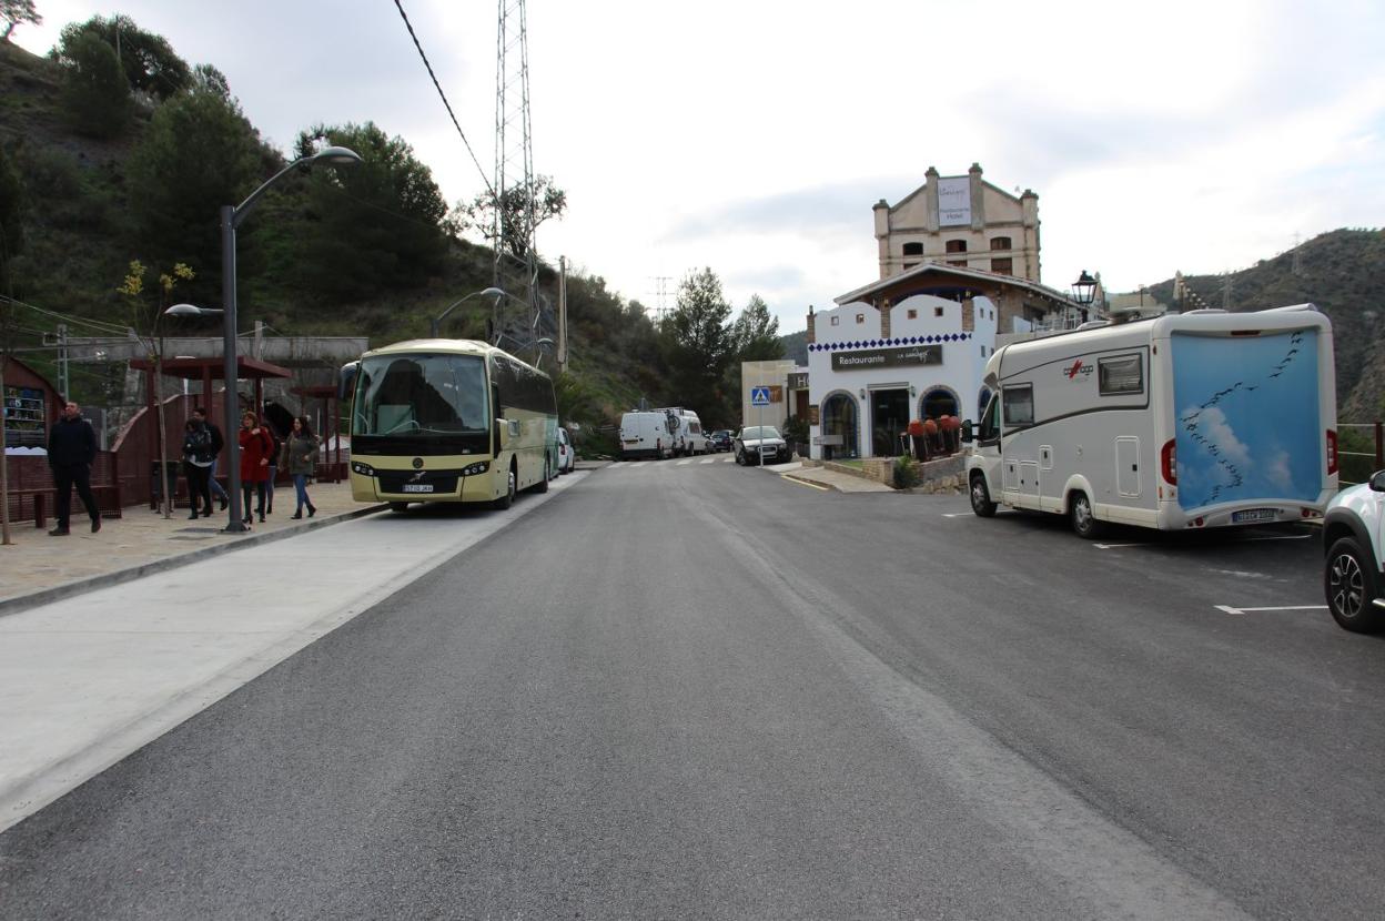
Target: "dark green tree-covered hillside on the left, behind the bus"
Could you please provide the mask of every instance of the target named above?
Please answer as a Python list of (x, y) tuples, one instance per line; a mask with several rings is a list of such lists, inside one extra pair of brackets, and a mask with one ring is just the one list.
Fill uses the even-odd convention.
[[(306, 125), (292, 150), (278, 151), (215, 65), (184, 61), (129, 17), (69, 24), (47, 57), (0, 42), (0, 179), (10, 179), (0, 187), (11, 188), (0, 295), (25, 305), (18, 346), (39, 346), (64, 317), (119, 324), (116, 288), (132, 260), (187, 266), (180, 299), (217, 305), (220, 206), (324, 144), (349, 147), (363, 163), (294, 175), (266, 193), (237, 234), (240, 316), (283, 335), (367, 335), (371, 345), (427, 335), (447, 305), (492, 284), (488, 208), (511, 204), (514, 190), (449, 208), (407, 140), (363, 115)], [(540, 177), (537, 195), (540, 216), (561, 219), (564, 190)], [(554, 266), (540, 266), (539, 285), (555, 303)], [(763, 301), (733, 313), (712, 269), (684, 277), (662, 323), (600, 276), (569, 276), (560, 410), (589, 429), (640, 400), (688, 406), (709, 427), (737, 424), (740, 361), (780, 350)], [(478, 298), (449, 316), (443, 334), (483, 338), (489, 316)], [(219, 335), (205, 321), (180, 331)], [(51, 355), (25, 357), (51, 370)], [(83, 374), (75, 395), (112, 399), (119, 371), (107, 377)]]

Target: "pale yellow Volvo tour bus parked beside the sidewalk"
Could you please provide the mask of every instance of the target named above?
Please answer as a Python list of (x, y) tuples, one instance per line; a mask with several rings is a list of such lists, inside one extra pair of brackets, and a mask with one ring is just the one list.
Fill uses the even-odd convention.
[(490, 503), (547, 492), (558, 415), (548, 375), (470, 339), (413, 339), (342, 368), (357, 501)]

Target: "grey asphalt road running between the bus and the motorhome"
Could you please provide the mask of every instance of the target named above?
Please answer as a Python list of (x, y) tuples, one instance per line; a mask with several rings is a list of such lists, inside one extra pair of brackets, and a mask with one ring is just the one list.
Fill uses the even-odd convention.
[(1299, 536), (614, 465), (0, 835), (0, 914), (1378, 917), (1385, 644), (1248, 609)]

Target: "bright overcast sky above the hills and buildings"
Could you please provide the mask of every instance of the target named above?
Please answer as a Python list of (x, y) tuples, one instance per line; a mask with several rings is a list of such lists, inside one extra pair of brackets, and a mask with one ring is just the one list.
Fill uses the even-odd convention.
[[(496, 3), (403, 0), (481, 165)], [(871, 205), (979, 162), (1039, 194), (1043, 281), (1242, 269), (1385, 215), (1385, 4), (1199, 0), (530, 0), (535, 169), (568, 193), (539, 249), (658, 306), (711, 266), (784, 332), (878, 277)], [(482, 179), (392, 0), (37, 0), (15, 40), (125, 12), (216, 65), (287, 150), (374, 120), (449, 202)]]

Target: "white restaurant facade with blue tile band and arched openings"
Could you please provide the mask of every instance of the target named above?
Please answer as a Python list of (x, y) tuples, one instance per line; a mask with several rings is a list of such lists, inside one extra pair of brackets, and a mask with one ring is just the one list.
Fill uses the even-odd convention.
[[(996, 346), (996, 314), (988, 298), (957, 302), (922, 294), (893, 305), (888, 331), (881, 328), (881, 312), (870, 303), (852, 302), (817, 313), (814, 341), (807, 346), (809, 403), (819, 407), (812, 456), (823, 458), (824, 446), (832, 447), (835, 457), (874, 453), (873, 391), (907, 389), (910, 418), (925, 415), (929, 396), (935, 403), (950, 396), (957, 415), (978, 418), (982, 373)], [(902, 357), (888, 367), (866, 367), (884, 360), (878, 357), (881, 349)], [(940, 360), (935, 360), (939, 350)], [(853, 356), (863, 367), (841, 367)]]

